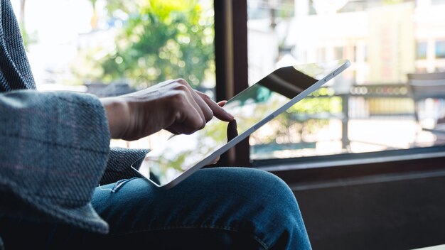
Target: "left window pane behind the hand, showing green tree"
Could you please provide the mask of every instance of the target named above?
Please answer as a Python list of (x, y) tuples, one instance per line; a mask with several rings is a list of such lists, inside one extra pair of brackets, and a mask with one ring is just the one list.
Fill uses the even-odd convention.
[[(211, 0), (11, 2), (38, 89), (107, 97), (183, 78), (215, 96)], [(156, 142), (112, 144), (150, 148)]]

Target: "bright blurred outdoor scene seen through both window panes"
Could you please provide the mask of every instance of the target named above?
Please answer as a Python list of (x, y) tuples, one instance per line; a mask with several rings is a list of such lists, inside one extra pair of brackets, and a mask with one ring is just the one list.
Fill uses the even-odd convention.
[[(181, 77), (215, 98), (213, 1), (11, 1), (42, 91), (108, 97)], [(426, 98), (415, 109), (407, 75), (445, 70), (443, 13), (444, 0), (247, 1), (250, 85), (285, 65), (352, 62), (252, 134), (250, 158), (438, 143), (422, 127), (436, 126), (444, 101)], [(112, 146), (154, 148), (168, 136)]]

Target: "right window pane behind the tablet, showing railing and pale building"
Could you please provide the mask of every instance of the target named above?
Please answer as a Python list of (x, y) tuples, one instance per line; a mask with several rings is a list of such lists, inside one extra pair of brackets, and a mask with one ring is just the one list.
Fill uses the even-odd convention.
[[(277, 67), (340, 58), (352, 62), (348, 70), (253, 134), (253, 160), (439, 143), (438, 136), (423, 131), (414, 119), (407, 74), (445, 70), (443, 1), (247, 4), (250, 85)], [(441, 116), (443, 102), (435, 103), (436, 116)]]

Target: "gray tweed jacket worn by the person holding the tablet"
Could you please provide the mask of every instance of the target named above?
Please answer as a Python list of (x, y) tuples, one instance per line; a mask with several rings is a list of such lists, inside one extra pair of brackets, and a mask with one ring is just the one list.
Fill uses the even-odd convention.
[(0, 0), (0, 216), (107, 233), (90, 204), (93, 190), (133, 177), (129, 165), (147, 151), (109, 148), (97, 97), (35, 89), (11, 3)]

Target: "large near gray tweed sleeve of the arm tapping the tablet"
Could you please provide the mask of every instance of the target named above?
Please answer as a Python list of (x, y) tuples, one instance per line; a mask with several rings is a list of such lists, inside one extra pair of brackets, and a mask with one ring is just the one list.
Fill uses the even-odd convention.
[(97, 97), (33, 90), (0, 94), (0, 200), (12, 194), (21, 202), (1, 202), (0, 212), (20, 212), (26, 205), (52, 219), (107, 232), (90, 200), (108, 154), (107, 117)]

